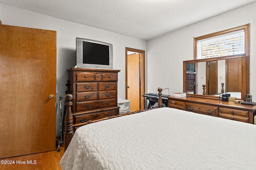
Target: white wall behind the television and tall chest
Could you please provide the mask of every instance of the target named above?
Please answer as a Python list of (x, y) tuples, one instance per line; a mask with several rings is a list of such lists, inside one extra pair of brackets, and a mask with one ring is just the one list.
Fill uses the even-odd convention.
[[(59, 97), (64, 98), (68, 80), (67, 68), (76, 65), (76, 37), (94, 39), (113, 44), (114, 69), (118, 74), (118, 98), (125, 99), (125, 47), (146, 51), (146, 41), (96, 29), (86, 25), (60, 20), (28, 10), (0, 4), (0, 20), (4, 25), (32, 27), (57, 31), (57, 82)], [(38, 40), (40, 41), (40, 40)], [(62, 100), (64, 109), (64, 99)], [(62, 109), (62, 112), (63, 112)], [(60, 115), (60, 114), (59, 114)], [(60, 135), (60, 117), (56, 116), (56, 135)]]

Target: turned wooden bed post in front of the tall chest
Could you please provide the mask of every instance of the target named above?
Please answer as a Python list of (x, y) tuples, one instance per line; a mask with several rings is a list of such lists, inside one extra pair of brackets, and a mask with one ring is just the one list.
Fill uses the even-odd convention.
[(64, 147), (65, 147), (65, 150), (68, 148), (68, 145), (74, 135), (74, 131), (73, 131), (73, 127), (72, 127), (72, 124), (73, 124), (73, 115), (72, 115), (72, 112), (71, 112), (71, 106), (73, 105), (73, 96), (72, 94), (67, 94), (65, 96), (65, 100), (67, 101), (65, 103), (66, 107), (67, 107), (67, 111), (66, 111), (66, 115), (65, 115), (65, 131), (64, 131)]

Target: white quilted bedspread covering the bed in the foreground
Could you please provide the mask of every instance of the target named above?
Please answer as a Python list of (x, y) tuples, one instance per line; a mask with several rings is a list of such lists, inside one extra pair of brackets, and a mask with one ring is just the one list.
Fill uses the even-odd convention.
[(256, 170), (256, 125), (163, 107), (85, 125), (63, 170)]

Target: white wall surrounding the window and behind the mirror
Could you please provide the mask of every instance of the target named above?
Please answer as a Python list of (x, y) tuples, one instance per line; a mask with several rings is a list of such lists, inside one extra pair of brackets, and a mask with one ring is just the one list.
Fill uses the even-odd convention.
[[(193, 37), (222, 31), (256, 20), (256, 3), (147, 41), (148, 93), (158, 87), (170, 94), (183, 91), (183, 61), (193, 60)], [(157, 64), (156, 64), (157, 63)], [(256, 101), (256, 23), (250, 24), (250, 93)]]

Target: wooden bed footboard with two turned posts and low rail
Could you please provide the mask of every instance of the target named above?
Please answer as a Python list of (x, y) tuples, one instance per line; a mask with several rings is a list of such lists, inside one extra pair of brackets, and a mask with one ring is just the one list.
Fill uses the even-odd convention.
[[(163, 102), (162, 102), (162, 88), (158, 88), (158, 95), (159, 95), (159, 99), (158, 99), (158, 107), (163, 107)], [(65, 105), (66, 105), (66, 115), (65, 115), (65, 120), (64, 120), (64, 125), (65, 125), (65, 130), (64, 130), (64, 148), (65, 150), (68, 148), (68, 145), (74, 135), (74, 129), (76, 129), (76, 125), (73, 125), (73, 115), (72, 115), (72, 111), (71, 111), (71, 106), (73, 104), (72, 102), (73, 100), (73, 96), (72, 94), (67, 94), (65, 96)], [(134, 112), (130, 112), (130, 113), (124, 113), (121, 115), (111, 115), (108, 117), (104, 117), (104, 118), (99, 118), (99, 119), (94, 119), (87, 121), (86, 123), (84, 123), (84, 125), (87, 125), (89, 123), (95, 123), (98, 121), (102, 121), (102, 120), (106, 120), (106, 119), (112, 119), (112, 118), (116, 118), (116, 117), (121, 117), (121, 116), (126, 116), (126, 115), (131, 115), (134, 113), (140, 113), (142, 111), (147, 111), (150, 109), (144, 109), (144, 110), (138, 110), (138, 111), (134, 111)]]

